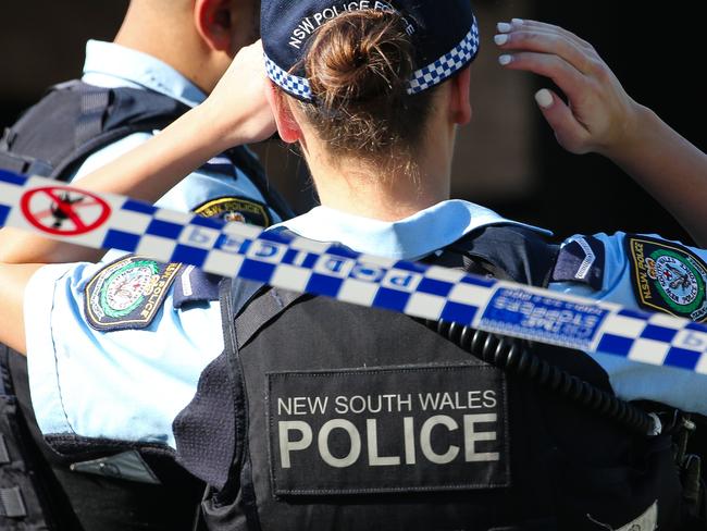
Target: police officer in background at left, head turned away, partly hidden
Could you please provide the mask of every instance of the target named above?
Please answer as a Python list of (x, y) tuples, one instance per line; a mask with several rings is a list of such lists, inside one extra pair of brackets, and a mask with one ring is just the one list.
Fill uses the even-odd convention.
[[(57, 166), (61, 166), (55, 168), (57, 172), (52, 176), (64, 182), (79, 181), (95, 169), (142, 145), (158, 133), (156, 122), (146, 119), (124, 131), (109, 131), (109, 126), (113, 123), (124, 124), (119, 115), (121, 112), (149, 116), (165, 107), (171, 112), (166, 119), (172, 120), (201, 103), (231, 64), (235, 53), (244, 45), (256, 40), (258, 20), (259, 2), (252, 0), (133, 0), (114, 42), (91, 40), (87, 44), (83, 84), (63, 85), (52, 90), (0, 143), (0, 168), (9, 168), (8, 164), (12, 161), (27, 160), (29, 156), (36, 158), (52, 150), (61, 152), (60, 145), (69, 143), (64, 159), (53, 161)], [(100, 101), (99, 96), (106, 96), (103, 114), (91, 108), (90, 113), (79, 115), (77, 113), (85, 109), (82, 106), (72, 107), (74, 100), (84, 103), (88, 97)], [(91, 114), (98, 115), (100, 126), (87, 133), (83, 144), (74, 144), (75, 137), (80, 136), (78, 128), (70, 135), (64, 134), (63, 129), (53, 131), (53, 135), (50, 131), (74, 122), (77, 127), (78, 124), (85, 126)], [(127, 120), (126, 118), (125, 121)], [(137, 123), (132, 116), (131, 120), (134, 121), (131, 123)], [(152, 125), (147, 127), (150, 124)], [(44, 138), (49, 145), (40, 145), (38, 138)], [(85, 145), (90, 145), (90, 149), (83, 149)], [(266, 186), (255, 157), (244, 148), (235, 155), (238, 157), (216, 153), (178, 182), (158, 203), (176, 210), (196, 211), (206, 217), (262, 226), (288, 217), (289, 211), (284, 201)], [(36, 169), (34, 165), (30, 171), (34, 173)], [(14, 251), (15, 260), (36, 259), (38, 248), (23, 249), (23, 246), (15, 246), (15, 243), (11, 235), (5, 235), (0, 255), (7, 259)], [(88, 251), (83, 258), (98, 259), (99, 256)], [(103, 261), (112, 262), (119, 255), (110, 254)], [(61, 260), (61, 256), (57, 255), (53, 259)], [(215, 280), (204, 277), (194, 269), (181, 270), (177, 281), (181, 285), (197, 287), (210, 283), (213, 296), (218, 296)], [(183, 295), (179, 304), (189, 304), (190, 295), (184, 292)], [(3, 356), (0, 363), (4, 366), (3, 373), (8, 372), (7, 386), (12, 384), (22, 405), (17, 411), (13, 407), (13, 415), (24, 412), (37, 444), (49, 456), (53, 468), (53, 472), (50, 471), (40, 455), (34, 456), (32, 466), (36, 468), (35, 477), (41, 477), (36, 487), (41, 490), (46, 486), (46, 492), (38, 495), (42, 497), (47, 526), (104, 530), (127, 530), (134, 527), (183, 529), (189, 526), (188, 516), (194, 513), (189, 506), (196, 507), (202, 487), (181, 469), (173, 467), (169, 456), (160, 457), (151, 464), (137, 462), (137, 466), (145, 468), (144, 478), (133, 477), (131, 480), (115, 480), (111, 477), (109, 472), (115, 469), (116, 462), (110, 459), (90, 466), (82, 465), (83, 461), (96, 461), (101, 457), (99, 455), (69, 461), (55, 459), (52, 452), (44, 446), (36, 429), (24, 357), (5, 353), (4, 347), (1, 348)], [(9, 388), (5, 392), (9, 393)], [(5, 437), (1, 444), (10, 445), (12, 434), (4, 431), (5, 428), (10, 430), (10, 425), (0, 424), (3, 427), (0, 431)], [(16, 425), (13, 428), (17, 429)], [(24, 446), (25, 453), (33, 448), (26, 436), (22, 443), (16, 444)], [(10, 454), (16, 452), (18, 449), (13, 447)], [(107, 452), (109, 458), (122, 454), (119, 449)], [(32, 459), (32, 454), (26, 454), (26, 457)], [(3, 467), (4, 464), (0, 465), (0, 474), (4, 474), (7, 467)], [(157, 471), (153, 470), (156, 468)], [(102, 472), (108, 477), (101, 476)], [(3, 501), (8, 504), (14, 497), (34, 497), (27, 492), (22, 494), (21, 491), (10, 489), (14, 483), (12, 474), (5, 478), (9, 483), (3, 481), (0, 486), (5, 493)], [(164, 483), (164, 486), (157, 484), (159, 482)], [(88, 493), (91, 496), (87, 496)], [(39, 516), (33, 515), (37, 502), (17, 502), (25, 505), (20, 513), (29, 509), (29, 517), (24, 518), (23, 523), (16, 514), (13, 521), (17, 526), (29, 526), (33, 518), (39, 520)], [(7, 514), (7, 510), (0, 510), (2, 526), (5, 524), (3, 520)], [(34, 524), (40, 526), (38, 522)]]

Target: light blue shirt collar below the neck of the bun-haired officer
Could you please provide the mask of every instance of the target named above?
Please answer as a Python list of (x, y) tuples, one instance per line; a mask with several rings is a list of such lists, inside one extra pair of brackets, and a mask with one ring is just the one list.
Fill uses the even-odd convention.
[(471, 231), (498, 224), (553, 234), (544, 229), (507, 220), (487, 208), (459, 199), (443, 201), (392, 223), (317, 207), (278, 226), (309, 239), (340, 243), (358, 252), (413, 260), (455, 243)]

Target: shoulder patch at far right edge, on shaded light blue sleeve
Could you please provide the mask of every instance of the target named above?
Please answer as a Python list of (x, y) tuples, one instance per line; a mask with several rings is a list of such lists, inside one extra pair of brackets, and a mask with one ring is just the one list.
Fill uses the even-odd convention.
[(699, 257), (648, 236), (627, 235), (625, 245), (638, 306), (707, 322), (707, 264)]

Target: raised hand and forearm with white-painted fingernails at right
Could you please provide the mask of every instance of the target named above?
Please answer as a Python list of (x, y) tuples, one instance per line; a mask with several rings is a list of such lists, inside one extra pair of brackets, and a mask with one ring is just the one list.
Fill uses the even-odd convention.
[(495, 41), (509, 70), (549, 77), (567, 103), (542, 89), (537, 104), (562, 147), (611, 159), (707, 248), (707, 155), (634, 101), (588, 42), (561, 27), (513, 18)]

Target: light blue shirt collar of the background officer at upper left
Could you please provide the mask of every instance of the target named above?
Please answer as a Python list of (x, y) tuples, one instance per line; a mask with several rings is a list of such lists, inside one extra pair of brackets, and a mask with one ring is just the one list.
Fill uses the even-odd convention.
[(84, 81), (102, 87), (147, 88), (189, 107), (207, 96), (183, 74), (152, 55), (113, 42), (86, 44)]

